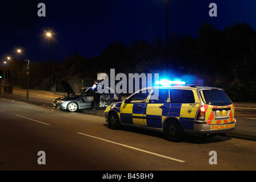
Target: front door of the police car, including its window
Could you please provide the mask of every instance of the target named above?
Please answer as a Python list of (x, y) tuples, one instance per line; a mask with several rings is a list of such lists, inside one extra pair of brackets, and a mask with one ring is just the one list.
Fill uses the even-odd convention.
[(120, 115), (122, 123), (145, 126), (146, 101), (150, 92), (151, 89), (142, 89), (122, 103)]

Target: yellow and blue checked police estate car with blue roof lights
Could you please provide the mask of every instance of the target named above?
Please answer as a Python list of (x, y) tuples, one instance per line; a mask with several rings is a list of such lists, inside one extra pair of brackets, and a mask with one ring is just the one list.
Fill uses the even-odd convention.
[(234, 104), (221, 88), (170, 84), (138, 90), (108, 106), (105, 118), (110, 129), (121, 125), (148, 127), (163, 131), (168, 140), (178, 141), (185, 134), (234, 130), (234, 111)]

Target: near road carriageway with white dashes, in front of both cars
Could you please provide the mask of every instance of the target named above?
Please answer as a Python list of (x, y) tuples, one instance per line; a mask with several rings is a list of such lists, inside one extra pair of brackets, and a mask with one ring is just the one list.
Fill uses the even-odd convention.
[(254, 140), (190, 135), (183, 142), (169, 142), (154, 131), (134, 127), (111, 130), (105, 118), (96, 115), (1, 97), (0, 114), (1, 171), (256, 169)]

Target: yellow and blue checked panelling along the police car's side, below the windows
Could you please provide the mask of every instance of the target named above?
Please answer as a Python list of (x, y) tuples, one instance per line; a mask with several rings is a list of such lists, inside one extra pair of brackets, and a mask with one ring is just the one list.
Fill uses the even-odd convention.
[[(193, 121), (199, 104), (125, 104), (119, 102), (109, 108), (115, 110), (121, 123), (162, 128), (166, 117), (177, 118), (183, 129), (193, 130)], [(107, 110), (105, 117), (107, 118)], [(189, 122), (190, 121), (190, 122)]]

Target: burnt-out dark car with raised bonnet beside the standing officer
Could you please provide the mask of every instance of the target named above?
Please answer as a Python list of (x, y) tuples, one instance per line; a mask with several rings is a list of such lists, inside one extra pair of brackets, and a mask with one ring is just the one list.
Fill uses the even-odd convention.
[[(61, 85), (65, 89), (67, 96), (56, 98), (53, 101), (54, 109), (62, 109), (70, 112), (75, 112), (79, 109), (91, 109), (94, 105), (94, 95), (95, 92), (92, 88), (87, 88), (85, 92), (78, 95), (75, 94), (73, 88), (70, 84), (64, 80), (61, 80)], [(113, 89), (109, 87), (102, 87), (104, 90), (101, 93), (99, 107), (106, 108), (107, 106), (114, 104), (115, 102), (120, 102), (121, 95), (115, 92)]]

